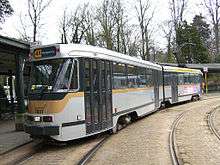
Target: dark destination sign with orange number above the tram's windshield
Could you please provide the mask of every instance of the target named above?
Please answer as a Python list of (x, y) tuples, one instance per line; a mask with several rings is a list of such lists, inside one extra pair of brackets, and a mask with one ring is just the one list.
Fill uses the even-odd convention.
[(53, 57), (56, 55), (56, 47), (37, 48), (33, 55), (35, 59)]

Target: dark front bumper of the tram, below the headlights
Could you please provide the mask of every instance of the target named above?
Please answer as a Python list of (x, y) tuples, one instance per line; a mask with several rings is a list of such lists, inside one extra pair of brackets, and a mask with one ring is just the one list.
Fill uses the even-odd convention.
[(30, 135), (36, 136), (54, 136), (59, 135), (59, 126), (30, 126), (24, 125), (24, 131)]

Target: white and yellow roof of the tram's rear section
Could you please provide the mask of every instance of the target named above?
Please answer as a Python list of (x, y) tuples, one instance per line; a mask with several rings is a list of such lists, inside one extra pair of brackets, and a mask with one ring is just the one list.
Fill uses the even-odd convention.
[(165, 72), (179, 72), (179, 73), (197, 73), (202, 74), (202, 72), (198, 69), (190, 69), (190, 68), (181, 68), (181, 67), (173, 67), (173, 66), (163, 66)]

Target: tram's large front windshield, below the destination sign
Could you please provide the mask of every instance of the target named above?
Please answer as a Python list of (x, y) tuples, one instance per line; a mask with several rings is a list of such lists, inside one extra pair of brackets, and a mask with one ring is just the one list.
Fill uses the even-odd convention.
[(34, 61), (30, 93), (65, 92), (76, 89), (77, 66), (74, 59)]

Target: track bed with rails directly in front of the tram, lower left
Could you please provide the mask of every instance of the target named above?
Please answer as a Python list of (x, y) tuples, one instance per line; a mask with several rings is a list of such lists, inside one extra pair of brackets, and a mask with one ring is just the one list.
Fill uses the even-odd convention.
[(3, 164), (42, 164), (45, 160), (47, 164), (87, 164), (108, 137), (108, 134), (100, 134), (66, 143), (42, 143), (42, 146), (34, 147), (33, 152)]

